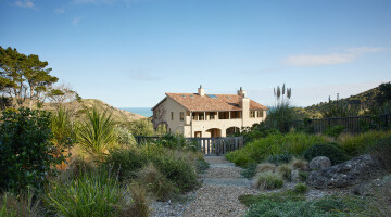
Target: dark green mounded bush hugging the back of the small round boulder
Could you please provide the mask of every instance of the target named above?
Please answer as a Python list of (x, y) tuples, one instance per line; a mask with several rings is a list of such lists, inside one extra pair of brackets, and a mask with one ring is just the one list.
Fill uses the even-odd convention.
[(348, 157), (342, 149), (333, 143), (329, 144), (315, 144), (303, 153), (303, 156), (308, 162), (316, 156), (326, 156), (331, 161), (332, 165), (344, 162)]

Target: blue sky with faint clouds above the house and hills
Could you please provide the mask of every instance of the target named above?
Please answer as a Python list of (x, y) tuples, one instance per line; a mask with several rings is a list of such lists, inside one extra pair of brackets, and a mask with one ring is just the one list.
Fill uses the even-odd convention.
[(48, 61), (85, 99), (152, 107), (165, 92), (307, 106), (391, 80), (390, 0), (0, 0), (0, 46)]

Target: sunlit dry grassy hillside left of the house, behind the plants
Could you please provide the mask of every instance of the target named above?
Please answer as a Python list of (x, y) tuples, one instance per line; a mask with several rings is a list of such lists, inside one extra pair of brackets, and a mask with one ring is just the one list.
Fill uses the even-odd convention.
[[(108, 110), (108, 112), (112, 114), (112, 117), (117, 123), (127, 123), (146, 118), (144, 116), (113, 107), (112, 105), (96, 99), (83, 99), (79, 101), (64, 103), (63, 105), (67, 111), (74, 113), (76, 117), (83, 117), (88, 110), (96, 106), (99, 111)], [(43, 110), (48, 111), (53, 111), (56, 105), (52, 103), (45, 103), (43, 105)]]

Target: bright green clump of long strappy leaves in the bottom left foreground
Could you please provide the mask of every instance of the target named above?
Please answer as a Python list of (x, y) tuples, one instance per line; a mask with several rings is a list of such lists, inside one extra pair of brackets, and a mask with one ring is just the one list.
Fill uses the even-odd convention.
[(55, 216), (121, 216), (126, 195), (108, 169), (53, 181), (45, 192), (46, 207)]

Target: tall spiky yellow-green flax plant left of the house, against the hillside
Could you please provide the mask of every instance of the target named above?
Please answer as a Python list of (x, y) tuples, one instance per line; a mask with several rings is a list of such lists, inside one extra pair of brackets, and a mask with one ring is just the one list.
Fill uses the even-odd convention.
[(116, 141), (114, 127), (108, 111), (101, 113), (93, 107), (78, 129), (77, 141), (87, 153), (101, 158)]

